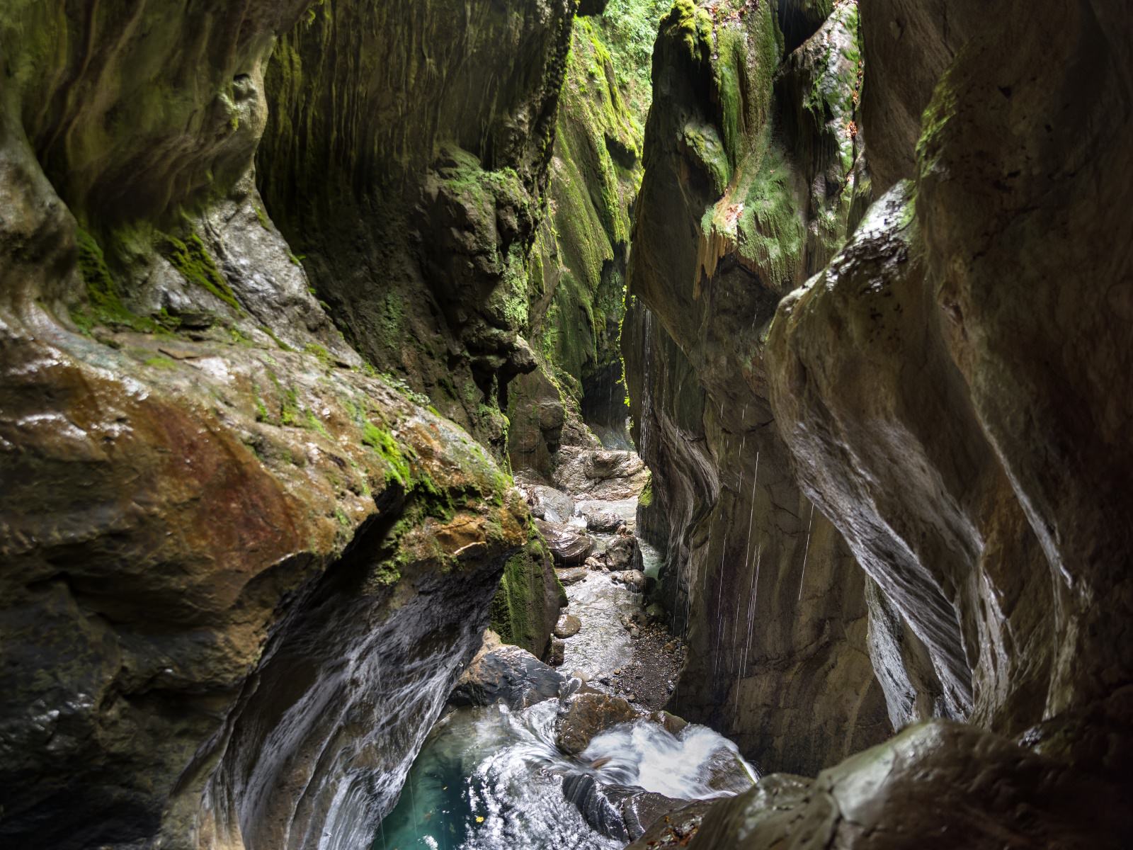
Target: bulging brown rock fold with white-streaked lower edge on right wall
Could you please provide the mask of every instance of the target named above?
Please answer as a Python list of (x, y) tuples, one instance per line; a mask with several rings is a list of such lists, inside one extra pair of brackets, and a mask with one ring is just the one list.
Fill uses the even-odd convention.
[[(910, 648), (922, 644), (931, 658), (931, 670), (911, 673), (927, 677), (913, 688), (921, 708), (889, 686), (891, 714), (965, 719), (977, 708), (1019, 732), (1042, 719), (1051, 585), (1043, 570), (1010, 567), (1042, 555), (945, 349), (910, 192), (891, 189), (830, 265), (782, 303), (773, 398), (803, 481), (908, 621)], [(885, 604), (871, 652), (879, 671), (895, 671), (902, 653), (886, 645), (901, 627)]]

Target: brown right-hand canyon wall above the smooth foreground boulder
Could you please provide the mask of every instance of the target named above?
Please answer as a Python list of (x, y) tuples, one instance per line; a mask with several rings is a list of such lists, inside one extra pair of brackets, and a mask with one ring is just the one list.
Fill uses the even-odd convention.
[[(1105, 705), (1124, 737), (1133, 717), (1113, 705), (1133, 656), (1114, 636), (1130, 579), (1116, 564), (1131, 541), (1114, 511), (1131, 460), (1113, 424), (1130, 406), (1127, 248), (1087, 249), (1083, 235), (1133, 227), (1133, 178), (1105, 130), (1128, 113), (1133, 66), (1104, 31), (1130, 22), (1104, 3), (1056, 6), (1025, 25), (981, 8), (977, 29), (961, 14), (944, 41), (968, 33), (959, 52), (931, 16), (908, 22), (898, 50), (866, 15), (867, 51), (881, 46), (864, 130), (905, 144), (871, 162), (904, 175), (915, 161), (915, 180), (781, 304), (772, 399), (803, 485), (885, 597), (871, 651), (894, 672), (894, 716), (936, 704), (1017, 734)], [(929, 104), (915, 131), (910, 103)], [(1085, 203), (1091, 179), (1106, 188)]]

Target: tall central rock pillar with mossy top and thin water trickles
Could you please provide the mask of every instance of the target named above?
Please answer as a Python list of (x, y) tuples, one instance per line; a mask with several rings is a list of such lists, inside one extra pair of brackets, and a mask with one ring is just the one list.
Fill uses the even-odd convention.
[(765, 770), (811, 772), (889, 722), (862, 576), (793, 481), (763, 363), (780, 298), (867, 192), (857, 7), (806, 5), (784, 56), (780, 14), (800, 6), (682, 1), (663, 22), (622, 339), (653, 471), (638, 528), (666, 550), (689, 644), (672, 708)]

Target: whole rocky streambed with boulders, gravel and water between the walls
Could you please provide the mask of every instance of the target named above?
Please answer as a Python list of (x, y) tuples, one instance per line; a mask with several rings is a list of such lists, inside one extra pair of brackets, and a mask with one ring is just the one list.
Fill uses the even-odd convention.
[(732, 741), (662, 711), (684, 651), (644, 607), (658, 555), (633, 534), (637, 456), (578, 466), (573, 495), (518, 476), (566, 589), (550, 663), (487, 632), (374, 850), (621, 848), (755, 784)]

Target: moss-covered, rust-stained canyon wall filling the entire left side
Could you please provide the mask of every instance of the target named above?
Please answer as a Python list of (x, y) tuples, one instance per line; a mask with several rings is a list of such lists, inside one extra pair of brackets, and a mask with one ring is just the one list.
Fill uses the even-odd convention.
[(572, 12), (0, 11), (5, 843), (357, 847), (505, 571), (542, 651), (500, 394)]

